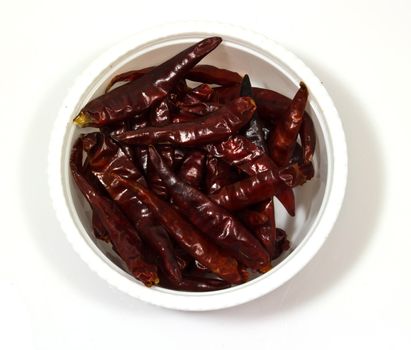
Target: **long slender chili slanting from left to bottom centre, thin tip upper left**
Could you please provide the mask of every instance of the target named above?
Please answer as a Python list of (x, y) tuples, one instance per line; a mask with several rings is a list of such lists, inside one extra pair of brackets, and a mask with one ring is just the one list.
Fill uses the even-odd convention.
[[(160, 157), (160, 155), (158, 156)], [(161, 200), (138, 182), (132, 182), (117, 175), (113, 176), (126, 188), (132, 190), (156, 215), (163, 227), (181, 248), (227, 282), (241, 283), (237, 261), (223, 254), (217, 247), (203, 238), (169, 203)]]

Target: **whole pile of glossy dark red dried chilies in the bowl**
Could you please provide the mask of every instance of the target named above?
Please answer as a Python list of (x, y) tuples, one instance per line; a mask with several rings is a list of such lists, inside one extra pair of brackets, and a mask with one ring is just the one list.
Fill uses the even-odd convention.
[(94, 234), (146, 286), (212, 291), (268, 271), (289, 249), (273, 196), (293, 216), (293, 188), (314, 175), (306, 86), (290, 100), (197, 65), (221, 41), (114, 77), (74, 119), (98, 128), (70, 158)]

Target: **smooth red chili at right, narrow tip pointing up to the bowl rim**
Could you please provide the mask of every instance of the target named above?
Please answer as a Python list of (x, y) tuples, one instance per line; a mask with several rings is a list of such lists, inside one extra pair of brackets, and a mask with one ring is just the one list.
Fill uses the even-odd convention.
[(300, 89), (292, 100), (287, 114), (271, 131), (268, 138), (268, 149), (271, 158), (278, 166), (288, 164), (293, 154), (307, 99), (307, 87), (301, 82)]

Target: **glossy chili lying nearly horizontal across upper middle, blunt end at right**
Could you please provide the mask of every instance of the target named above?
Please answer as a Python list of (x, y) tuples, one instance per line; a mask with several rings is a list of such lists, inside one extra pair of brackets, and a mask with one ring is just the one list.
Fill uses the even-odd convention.
[(126, 144), (166, 143), (188, 147), (218, 142), (247, 124), (254, 110), (255, 104), (250, 97), (239, 97), (195, 122), (129, 131), (116, 135), (115, 139)]

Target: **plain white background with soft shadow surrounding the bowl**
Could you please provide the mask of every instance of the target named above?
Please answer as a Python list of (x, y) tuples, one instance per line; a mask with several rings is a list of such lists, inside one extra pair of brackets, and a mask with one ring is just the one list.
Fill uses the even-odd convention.
[[(321, 251), (278, 290), (216, 312), (109, 287), (66, 241), (47, 189), (51, 125), (75, 77), (178, 19), (240, 24), (296, 53), (348, 142), (347, 194)], [(410, 348), (410, 1), (4, 0), (0, 43), (1, 349)]]

